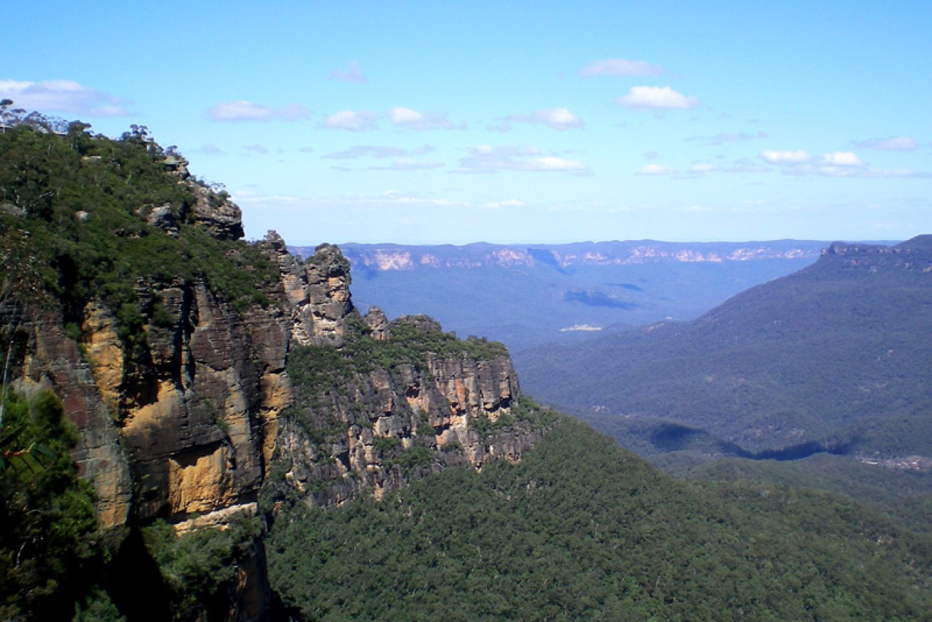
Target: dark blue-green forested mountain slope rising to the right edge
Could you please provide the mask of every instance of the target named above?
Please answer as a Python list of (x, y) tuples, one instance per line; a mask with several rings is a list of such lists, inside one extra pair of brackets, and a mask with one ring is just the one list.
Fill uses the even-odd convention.
[(515, 361), (528, 393), (644, 454), (829, 452), (930, 470), (932, 236), (835, 243), (691, 322)]

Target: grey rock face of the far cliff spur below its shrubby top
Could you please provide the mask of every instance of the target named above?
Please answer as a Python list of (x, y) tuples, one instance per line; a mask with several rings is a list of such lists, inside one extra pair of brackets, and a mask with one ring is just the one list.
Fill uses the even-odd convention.
[[(403, 318), (388, 332), (417, 324), (417, 330), (437, 330)], [(328, 364), (295, 362), (318, 370)], [(324, 507), (363, 491), (380, 498), (411, 477), (448, 465), (480, 468), (490, 458), (517, 460), (541, 434), (522, 420), (514, 368), (504, 355), (428, 352), (417, 363), (350, 366), (341, 373), (342, 380), (295, 390), (270, 480), (274, 499), (289, 490)]]

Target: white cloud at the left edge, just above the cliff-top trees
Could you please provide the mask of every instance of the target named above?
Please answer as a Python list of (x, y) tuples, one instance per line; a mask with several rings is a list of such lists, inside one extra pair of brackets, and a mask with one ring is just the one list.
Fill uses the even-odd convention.
[(0, 80), (0, 99), (27, 111), (66, 112), (89, 117), (126, 117), (125, 99), (84, 87), (74, 80)]

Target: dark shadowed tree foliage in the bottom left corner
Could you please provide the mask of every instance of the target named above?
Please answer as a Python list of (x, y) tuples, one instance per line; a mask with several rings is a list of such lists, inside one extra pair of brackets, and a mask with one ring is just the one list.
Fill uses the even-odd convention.
[(0, 471), (0, 618), (71, 619), (104, 560), (90, 485), (68, 454), (77, 437), (53, 394), (3, 401), (0, 436), (16, 458)]

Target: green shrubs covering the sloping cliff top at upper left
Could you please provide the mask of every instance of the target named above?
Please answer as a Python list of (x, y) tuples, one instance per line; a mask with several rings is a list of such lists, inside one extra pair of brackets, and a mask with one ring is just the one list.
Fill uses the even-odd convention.
[[(172, 172), (161, 147), (139, 131), (112, 140), (88, 127), (71, 124), (64, 137), (29, 125), (0, 134), (0, 247), (27, 239), (44, 288), (72, 318), (91, 297), (115, 313), (138, 307), (135, 290), (151, 281), (203, 279), (239, 311), (268, 303), (262, 291), (277, 268), (253, 245), (218, 240), (194, 222), (192, 182)], [(177, 235), (148, 222), (156, 208), (169, 210)], [(0, 265), (0, 281), (20, 278), (20, 266)], [(140, 332), (136, 319), (124, 324), (128, 335)]]

